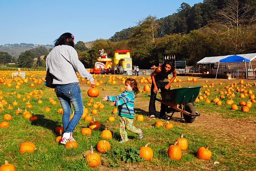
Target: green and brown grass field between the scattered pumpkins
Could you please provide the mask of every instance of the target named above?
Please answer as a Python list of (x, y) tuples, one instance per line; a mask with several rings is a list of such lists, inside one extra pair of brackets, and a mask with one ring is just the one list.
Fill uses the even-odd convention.
[[(36, 73), (31, 75), (37, 79), (44, 77), (44, 75), (38, 75)], [(123, 75), (116, 76), (125, 77)], [(11, 77), (6, 75), (6, 78), (10, 79)], [(122, 92), (120, 88), (124, 88), (124, 84), (122, 84), (121, 79), (115, 79), (117, 83), (112, 84), (110, 81), (108, 82), (108, 78), (109, 75), (105, 75), (104, 78), (100, 75), (96, 76), (97, 81), (102, 80), (103, 83), (97, 87), (100, 90), (100, 95), (93, 98), (93, 100), (94, 102), (102, 102), (105, 106), (104, 109), (97, 109), (97, 115), (91, 114), (93, 108), (87, 106), (90, 99), (87, 95), (87, 91), (90, 88), (89, 85), (86, 81), (80, 82), (84, 106), (88, 109), (90, 116), (93, 116), (93, 118), (101, 123), (101, 128), (99, 130), (92, 130), (90, 136), (85, 136), (81, 133), (81, 129), (89, 127), (89, 122), (81, 119), (73, 133), (73, 137), (78, 142), (78, 148), (74, 149), (66, 149), (65, 145), (59, 145), (55, 141), (59, 134), (55, 133), (54, 129), (62, 125), (62, 115), (57, 113), (61, 105), (51, 89), (45, 87), (43, 84), (40, 85), (37, 83), (35, 83), (34, 87), (30, 87), (33, 80), (22, 83), (20, 89), (15, 89), (15, 81), (11, 83), (12, 87), (10, 88), (0, 83), (0, 91), (3, 92), (0, 96), (2, 96), (2, 100), (7, 102), (3, 107), (4, 110), (1, 110), (0, 122), (5, 121), (3, 118), (5, 114), (12, 115), (12, 119), (8, 121), (10, 126), (0, 128), (0, 166), (4, 164), (5, 160), (8, 160), (9, 163), (15, 166), (16, 170), (255, 170), (255, 130), (253, 137), (250, 138), (245, 135), (239, 135), (238, 133), (232, 134), (230, 133), (232, 130), (228, 132), (222, 131), (222, 125), (218, 125), (214, 120), (214, 118), (232, 120), (234, 125), (232, 126), (231, 124), (229, 128), (234, 129), (234, 133), (237, 124), (246, 123), (245, 125), (239, 125), (243, 127), (244, 132), (247, 131), (247, 124), (249, 126), (255, 126), (255, 103), (252, 103), (252, 107), (246, 113), (242, 112), (239, 106), (240, 101), (246, 102), (250, 100), (249, 96), (243, 99), (239, 98), (241, 93), (236, 92), (236, 89), (234, 89), (235, 91), (233, 93), (235, 97), (232, 100), (238, 106), (238, 110), (236, 111), (231, 110), (231, 105), (225, 104), (225, 101), (228, 100), (226, 94), (224, 94), (225, 99), (220, 99), (222, 101), (221, 106), (213, 103), (213, 99), (216, 96), (220, 98), (219, 91), (225, 91), (225, 87), (228, 85), (231, 86), (236, 82), (237, 87), (241, 88), (241, 84), (239, 84), (240, 79), (215, 80), (198, 77), (195, 82), (187, 81), (187, 77), (179, 76), (181, 82), (173, 82), (173, 88), (171, 89), (177, 88), (177, 84), (180, 84), (181, 88), (183, 88), (202, 85), (209, 86), (211, 83), (214, 83), (214, 88), (201, 88), (200, 93), (202, 95), (204, 95), (204, 91), (207, 89), (210, 90), (208, 99), (211, 100), (211, 103), (207, 104), (205, 99), (194, 103), (195, 109), (201, 114), (195, 123), (189, 124), (183, 120), (181, 121), (181, 119), (175, 119), (180, 116), (177, 113), (174, 119), (169, 121), (174, 125), (170, 130), (166, 130), (165, 127), (154, 126), (156, 121), (162, 121), (164, 124), (167, 121), (152, 119), (146, 116), (149, 103), (148, 95), (150, 93), (139, 93), (135, 101), (135, 111), (136, 116), (144, 115), (144, 121), (137, 121), (135, 119), (134, 125), (143, 129), (144, 138), (139, 140), (137, 134), (128, 132), (129, 141), (120, 144), (119, 117), (112, 114), (114, 107), (109, 105), (110, 102), (103, 102), (101, 98), (104, 95), (114, 96), (120, 94)], [(137, 78), (139, 82), (140, 79)], [(2, 78), (2, 80), (5, 79)], [(205, 80), (208, 80), (208, 82), (205, 82)], [(219, 82), (222, 82), (222, 85), (219, 85)], [(255, 93), (256, 87), (253, 84), (254, 82), (256, 81), (244, 80), (244, 86), (247, 83), (252, 85), (252, 87), (246, 87), (245, 90), (252, 90)], [(143, 90), (145, 84), (139, 83), (139, 89)], [(148, 85), (150, 84), (148, 83)], [(105, 91), (102, 90), (103, 87), (106, 88)], [(216, 89), (219, 91), (215, 91)], [(38, 104), (39, 90), (43, 92), (40, 98), (42, 104)], [(30, 92), (33, 93), (29, 100), (27, 94)], [(20, 94), (22, 98), (17, 98), (17, 94)], [(26, 100), (23, 101), (23, 98), (26, 98)], [(49, 102), (49, 98), (52, 98), (57, 104), (52, 105)], [(15, 101), (18, 102), (17, 106), (12, 105)], [(32, 109), (26, 108), (25, 103), (28, 101), (33, 106)], [(159, 103), (156, 103), (157, 111), (159, 111)], [(13, 109), (7, 109), (9, 105), (13, 106)], [(49, 107), (51, 111), (46, 112), (44, 110), (46, 107)], [(29, 119), (25, 119), (22, 113), (15, 115), (15, 111), (18, 108), (22, 109), (23, 112), (25, 110), (33, 112), (38, 119), (30, 121)], [(109, 116), (114, 116), (115, 121), (109, 122)], [(204, 117), (207, 116), (208, 122), (204, 120)], [(212, 121), (211, 118), (213, 118)], [(204, 127), (197, 126), (202, 124)], [(100, 153), (97, 151), (96, 146), (102, 140), (101, 131), (105, 130), (105, 128), (112, 132), (112, 139), (107, 140), (111, 147), (109, 151)], [(188, 141), (188, 148), (182, 151), (180, 160), (172, 160), (167, 155), (168, 148), (175, 143), (176, 139), (182, 133)], [(37, 149), (31, 153), (21, 153), (19, 149), (22, 142), (32, 142)], [(149, 161), (140, 160), (138, 158), (138, 150), (148, 142), (151, 143), (149, 147), (153, 150), (154, 156)], [(197, 158), (197, 150), (202, 146), (206, 147), (208, 145), (210, 146), (209, 150), (212, 152), (211, 158), (209, 160)], [(91, 146), (93, 146), (94, 152), (101, 156), (101, 164), (96, 167), (88, 166), (85, 160), (85, 156), (89, 153)]]

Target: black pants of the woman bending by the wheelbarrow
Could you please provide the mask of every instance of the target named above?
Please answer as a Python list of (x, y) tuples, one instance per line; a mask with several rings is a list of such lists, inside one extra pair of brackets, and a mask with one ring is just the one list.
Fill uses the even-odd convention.
[[(167, 85), (169, 82), (163, 82), (163, 81), (156, 81), (156, 86), (157, 89), (161, 90), (161, 92), (165, 92), (170, 90), (170, 88), (168, 90), (164, 89), (165, 85)], [(152, 83), (151, 85), (151, 96), (150, 96), (150, 101), (149, 101), (149, 115), (155, 115), (156, 116), (156, 95), (154, 93), (154, 84)], [(160, 117), (165, 116), (165, 110), (168, 106), (164, 105), (161, 103), (161, 109), (160, 109)]]

